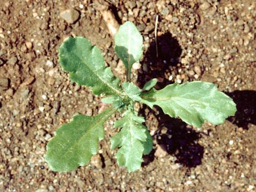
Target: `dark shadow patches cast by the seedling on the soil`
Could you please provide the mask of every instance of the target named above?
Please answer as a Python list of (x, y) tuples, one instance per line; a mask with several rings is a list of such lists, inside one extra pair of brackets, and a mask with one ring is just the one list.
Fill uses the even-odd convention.
[[(168, 68), (177, 65), (182, 52), (181, 47), (177, 39), (173, 38), (170, 33), (157, 37), (157, 45), (158, 57), (156, 57), (156, 43), (152, 42), (145, 54), (145, 59), (141, 62), (143, 70), (139, 71), (137, 79), (140, 87), (152, 78), (158, 78), (156, 89), (162, 89), (173, 83), (164, 78), (164, 73)], [(159, 78), (162, 82), (159, 82)], [(243, 129), (248, 129), (249, 123), (256, 125), (256, 91), (234, 91), (226, 94), (233, 98), (237, 105), (236, 115), (229, 117), (228, 120), (239, 127), (243, 127)], [(142, 116), (145, 116), (146, 108), (148, 107), (144, 105), (140, 110), (139, 113)], [(202, 164), (204, 147), (197, 142), (202, 134), (191, 129), (180, 119), (165, 115), (162, 109), (157, 106), (155, 107), (156, 110), (148, 109), (158, 121), (158, 130), (154, 137), (159, 146), (176, 157), (175, 163), (189, 168)], [(163, 129), (165, 131), (162, 131)], [(154, 160), (154, 153), (153, 150), (145, 156), (146, 161), (143, 165)]]

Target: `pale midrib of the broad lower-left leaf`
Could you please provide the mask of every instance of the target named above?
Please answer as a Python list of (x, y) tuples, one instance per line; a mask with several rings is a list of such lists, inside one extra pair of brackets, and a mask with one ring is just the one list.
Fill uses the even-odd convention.
[[(80, 137), (73, 145), (71, 145), (71, 146), (69, 147), (69, 149), (75, 147), (75, 146), (79, 143), (79, 141), (81, 141), (81, 140), (85, 137), (85, 135), (86, 135), (87, 133), (90, 133), (90, 131), (93, 130), (94, 127), (97, 127), (97, 126), (100, 125), (101, 123), (104, 123), (104, 122), (106, 121), (106, 119), (107, 119), (109, 116), (111, 116), (113, 113), (115, 113), (116, 110), (117, 110), (116, 108), (110, 107), (110, 108), (106, 109), (105, 111), (103, 111), (101, 114), (99, 114), (99, 115), (103, 115), (102, 118), (100, 119), (100, 121), (98, 121), (96, 124), (93, 124), (91, 127), (89, 127), (88, 130), (87, 130), (84, 134), (82, 134), (81, 137)], [(97, 115), (97, 116), (98, 116), (98, 115)], [(61, 157), (66, 156), (67, 153), (68, 153), (68, 151), (69, 151), (69, 149), (67, 149), (67, 150), (65, 151), (65, 153), (63, 153), (63, 154), (61, 155)], [(60, 157), (60, 158), (61, 158), (61, 157)]]

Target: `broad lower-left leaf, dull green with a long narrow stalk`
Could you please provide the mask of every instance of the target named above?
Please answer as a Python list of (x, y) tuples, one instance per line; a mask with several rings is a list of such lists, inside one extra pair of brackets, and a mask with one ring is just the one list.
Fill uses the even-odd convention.
[(70, 123), (61, 125), (46, 146), (45, 161), (51, 170), (67, 172), (88, 163), (104, 137), (103, 123), (115, 111), (110, 107), (93, 117), (76, 115)]

